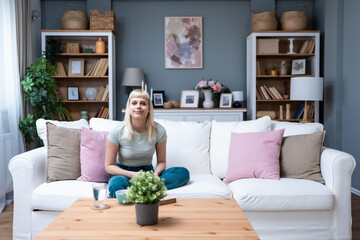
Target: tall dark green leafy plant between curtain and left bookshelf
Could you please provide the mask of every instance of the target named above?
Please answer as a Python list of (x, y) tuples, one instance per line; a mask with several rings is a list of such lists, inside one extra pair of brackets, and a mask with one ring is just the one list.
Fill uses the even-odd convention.
[(36, 120), (62, 119), (66, 109), (63, 102), (58, 97), (59, 91), (56, 89), (55, 79), (53, 78), (56, 67), (42, 56), (36, 59), (35, 64), (31, 64), (26, 69), (20, 81), (24, 90), (25, 101), (31, 106), (31, 113), (19, 123), (19, 129), (24, 135), (25, 142), (30, 144), (36, 142), (41, 144), (41, 140), (36, 133)]

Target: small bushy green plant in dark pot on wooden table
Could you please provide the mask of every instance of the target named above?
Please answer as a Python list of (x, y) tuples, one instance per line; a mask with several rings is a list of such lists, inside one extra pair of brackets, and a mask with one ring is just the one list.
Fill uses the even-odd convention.
[(126, 198), (135, 203), (136, 223), (142, 226), (157, 224), (159, 202), (166, 196), (164, 179), (154, 176), (152, 171), (140, 171), (130, 183)]

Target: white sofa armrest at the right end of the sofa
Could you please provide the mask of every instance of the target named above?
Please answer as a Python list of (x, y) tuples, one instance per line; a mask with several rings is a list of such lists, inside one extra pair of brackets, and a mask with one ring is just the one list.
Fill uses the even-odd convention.
[(351, 239), (351, 175), (356, 162), (353, 156), (323, 148), (320, 160), (325, 185), (334, 193), (334, 239)]

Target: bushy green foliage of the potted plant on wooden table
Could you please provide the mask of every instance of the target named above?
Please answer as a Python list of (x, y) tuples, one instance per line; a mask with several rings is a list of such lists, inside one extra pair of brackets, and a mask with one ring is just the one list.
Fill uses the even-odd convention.
[(164, 179), (155, 176), (153, 171), (140, 171), (137, 177), (130, 179), (131, 186), (127, 188), (127, 200), (135, 203), (158, 203), (166, 196)]

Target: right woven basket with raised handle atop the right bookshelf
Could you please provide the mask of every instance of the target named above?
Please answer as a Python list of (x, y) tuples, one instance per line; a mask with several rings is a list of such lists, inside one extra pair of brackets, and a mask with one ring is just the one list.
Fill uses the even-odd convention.
[[(303, 6), (304, 11), (298, 11)], [(281, 29), (284, 31), (301, 31), (305, 30), (308, 22), (305, 5), (299, 4), (297, 11), (283, 12), (281, 14)]]

